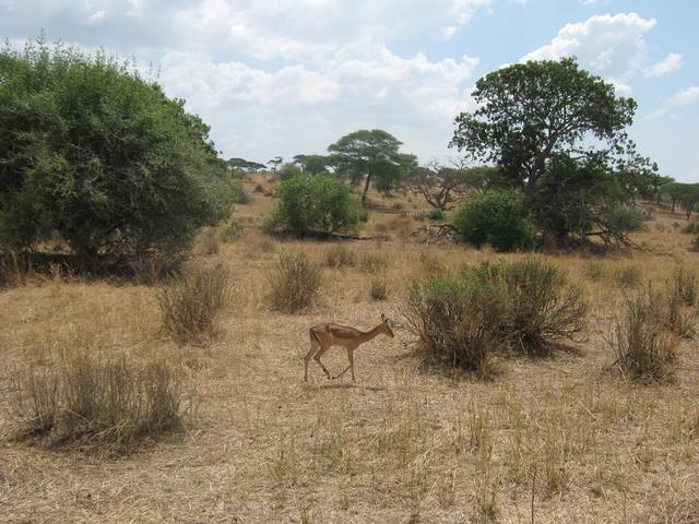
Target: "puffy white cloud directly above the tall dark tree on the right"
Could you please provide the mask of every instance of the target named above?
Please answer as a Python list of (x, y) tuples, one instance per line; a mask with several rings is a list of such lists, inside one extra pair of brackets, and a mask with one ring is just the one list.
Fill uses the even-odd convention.
[(594, 15), (565, 25), (549, 44), (525, 55), (522, 61), (576, 56), (582, 67), (620, 84), (644, 63), (643, 36), (655, 24), (655, 19), (647, 20), (637, 13)]

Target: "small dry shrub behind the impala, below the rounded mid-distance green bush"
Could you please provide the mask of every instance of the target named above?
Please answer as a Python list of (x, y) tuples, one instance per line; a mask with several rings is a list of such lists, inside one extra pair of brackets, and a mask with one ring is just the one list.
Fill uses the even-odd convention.
[(282, 253), (270, 282), (272, 308), (284, 313), (296, 313), (316, 301), (321, 272), (304, 253)]

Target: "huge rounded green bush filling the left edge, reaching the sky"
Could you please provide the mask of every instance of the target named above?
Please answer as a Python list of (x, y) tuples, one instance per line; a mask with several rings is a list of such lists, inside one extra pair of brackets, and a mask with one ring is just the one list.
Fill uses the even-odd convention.
[(128, 63), (43, 41), (0, 51), (0, 243), (52, 231), (90, 265), (174, 254), (235, 195), (209, 128)]

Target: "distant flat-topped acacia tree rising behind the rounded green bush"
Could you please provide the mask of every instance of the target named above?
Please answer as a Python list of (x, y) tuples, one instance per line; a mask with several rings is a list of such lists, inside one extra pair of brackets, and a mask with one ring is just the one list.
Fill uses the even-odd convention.
[(400, 153), (402, 144), (381, 129), (363, 129), (342, 136), (328, 151), (340, 175), (348, 176), (353, 183), (364, 180), (364, 203), (374, 179), (377, 188), (388, 193), (417, 164), (414, 155)]

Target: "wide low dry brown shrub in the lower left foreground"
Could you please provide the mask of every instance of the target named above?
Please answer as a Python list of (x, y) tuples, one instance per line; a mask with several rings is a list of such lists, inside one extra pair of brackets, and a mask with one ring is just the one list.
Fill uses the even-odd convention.
[(181, 390), (162, 362), (85, 353), (15, 373), (8, 406), (17, 440), (123, 454), (180, 425)]

